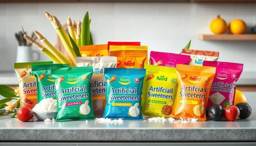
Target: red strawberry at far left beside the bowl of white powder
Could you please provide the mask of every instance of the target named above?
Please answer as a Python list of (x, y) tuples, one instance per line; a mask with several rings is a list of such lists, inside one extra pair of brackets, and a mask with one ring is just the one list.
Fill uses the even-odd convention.
[(33, 117), (32, 109), (22, 106), (17, 110), (17, 118), (23, 122), (29, 121)]

